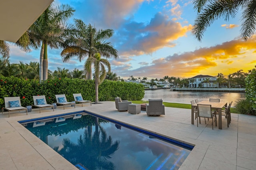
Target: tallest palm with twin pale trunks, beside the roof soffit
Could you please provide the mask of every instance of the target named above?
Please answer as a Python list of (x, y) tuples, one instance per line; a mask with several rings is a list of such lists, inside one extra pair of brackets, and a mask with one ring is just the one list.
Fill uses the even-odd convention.
[(42, 43), (39, 62), (40, 81), (48, 78), (47, 47), (59, 48), (68, 28), (66, 21), (73, 15), (74, 11), (69, 5), (62, 4), (54, 7), (51, 4), (29, 29), (33, 38), (32, 41), (37, 42), (38, 45)]

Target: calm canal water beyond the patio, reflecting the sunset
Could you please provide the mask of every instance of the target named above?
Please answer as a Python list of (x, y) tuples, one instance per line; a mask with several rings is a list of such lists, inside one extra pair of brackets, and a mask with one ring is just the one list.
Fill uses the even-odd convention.
[(172, 92), (170, 89), (145, 90), (142, 100), (162, 99), (163, 102), (191, 104), (191, 100), (198, 101), (209, 100), (209, 98), (217, 98), (221, 101), (236, 102), (240, 98), (245, 98), (245, 93), (234, 92)]

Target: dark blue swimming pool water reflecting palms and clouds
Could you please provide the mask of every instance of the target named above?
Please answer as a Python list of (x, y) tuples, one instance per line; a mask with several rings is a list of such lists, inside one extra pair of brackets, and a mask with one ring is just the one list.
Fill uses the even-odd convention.
[(193, 148), (93, 113), (19, 123), (80, 170), (177, 170)]

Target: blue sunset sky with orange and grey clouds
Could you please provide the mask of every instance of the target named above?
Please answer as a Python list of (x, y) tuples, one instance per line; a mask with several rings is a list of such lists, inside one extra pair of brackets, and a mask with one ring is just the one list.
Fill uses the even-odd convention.
[[(240, 39), (240, 13), (228, 21), (220, 18), (207, 28), (202, 41), (192, 34), (197, 16), (192, 0), (54, 0), (56, 5), (69, 4), (74, 18), (99, 29), (113, 29), (106, 41), (117, 49), (119, 58), (110, 59), (111, 71), (129, 76), (192, 78), (196, 75), (217, 76), (254, 68), (256, 36)], [(84, 61), (76, 57), (63, 63), (61, 49), (48, 48), (48, 69), (57, 67), (83, 70)], [(40, 49), (30, 53), (10, 44), (10, 62), (39, 62)]]

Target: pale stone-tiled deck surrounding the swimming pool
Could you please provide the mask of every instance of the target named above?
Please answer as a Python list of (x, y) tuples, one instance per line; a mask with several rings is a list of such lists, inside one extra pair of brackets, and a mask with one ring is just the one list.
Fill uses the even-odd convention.
[[(191, 109), (165, 107), (165, 115), (147, 116), (146, 111), (130, 114), (119, 112), (115, 102), (76, 104), (76, 108), (58, 106), (57, 109), (32, 109), (26, 112), (0, 114), (0, 169), (2, 170), (77, 170), (48, 145), (34, 136), (17, 121), (86, 110), (129, 125), (152, 131), (194, 145), (179, 170), (255, 170), (256, 116), (231, 113), (227, 127), (222, 117), (222, 129), (212, 121), (196, 126), (191, 124)], [(218, 123), (217, 123), (218, 125)], [(125, 169), (125, 168), (124, 168)], [(126, 169), (130, 169), (126, 167)]]

